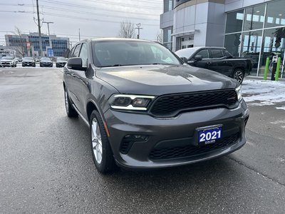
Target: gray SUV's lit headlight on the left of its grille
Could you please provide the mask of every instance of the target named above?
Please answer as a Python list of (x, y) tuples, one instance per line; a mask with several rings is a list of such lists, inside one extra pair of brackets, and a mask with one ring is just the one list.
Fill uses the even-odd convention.
[(146, 111), (154, 98), (155, 96), (115, 94), (110, 98), (109, 103), (114, 109)]

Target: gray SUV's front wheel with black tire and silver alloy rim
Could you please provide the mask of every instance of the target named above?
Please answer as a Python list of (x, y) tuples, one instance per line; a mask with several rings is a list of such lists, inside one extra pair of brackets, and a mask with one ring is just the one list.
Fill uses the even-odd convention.
[(90, 145), (95, 167), (99, 173), (112, 173), (117, 169), (103, 120), (98, 111), (90, 116)]

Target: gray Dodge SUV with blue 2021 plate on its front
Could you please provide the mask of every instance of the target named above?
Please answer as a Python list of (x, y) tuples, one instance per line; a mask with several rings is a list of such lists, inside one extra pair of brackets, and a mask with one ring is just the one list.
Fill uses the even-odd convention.
[(239, 83), (155, 42), (81, 41), (63, 70), (66, 113), (90, 127), (100, 173), (197, 163), (246, 143)]

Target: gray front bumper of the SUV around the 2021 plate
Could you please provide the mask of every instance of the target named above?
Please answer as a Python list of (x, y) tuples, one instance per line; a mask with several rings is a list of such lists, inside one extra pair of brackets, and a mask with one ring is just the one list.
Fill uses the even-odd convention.
[[(182, 113), (175, 118), (154, 118), (146, 114), (124, 113), (109, 109), (104, 114), (110, 133), (109, 142), (115, 161), (126, 169), (167, 168), (207, 161), (212, 158), (232, 153), (244, 146), (245, 125), (249, 110), (244, 101), (234, 109), (214, 108), (203, 111)], [(222, 148), (207, 152), (187, 155), (179, 153), (177, 148), (188, 148), (197, 145), (196, 129), (204, 126), (222, 124), (222, 138), (237, 136), (234, 142), (225, 144)], [(122, 151), (123, 138), (126, 135), (145, 135), (147, 141), (132, 142), (128, 152)], [(215, 143), (212, 144), (213, 146)], [(211, 146), (211, 145), (210, 145)], [(161, 149), (172, 152), (169, 157), (153, 158), (151, 153)], [(199, 151), (199, 149), (198, 149)], [(167, 152), (165, 152), (167, 153)]]

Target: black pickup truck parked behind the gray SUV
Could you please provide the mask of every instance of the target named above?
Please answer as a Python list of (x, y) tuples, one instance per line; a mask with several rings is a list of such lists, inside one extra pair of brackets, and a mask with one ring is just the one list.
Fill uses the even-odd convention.
[(190, 66), (217, 71), (237, 79), (239, 83), (252, 71), (250, 58), (234, 57), (224, 48), (189, 48), (176, 51), (175, 54)]

